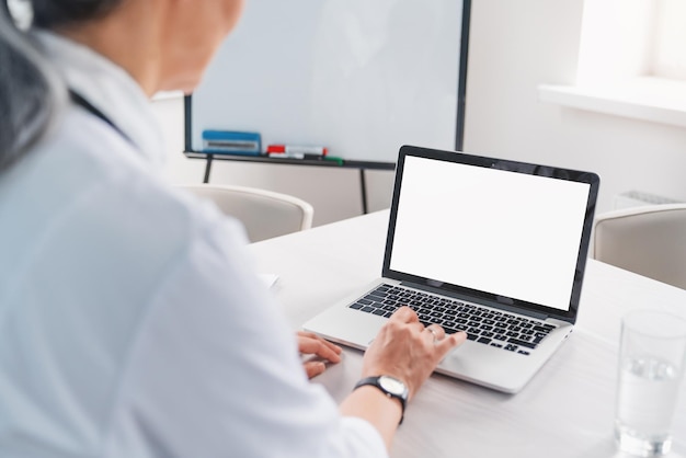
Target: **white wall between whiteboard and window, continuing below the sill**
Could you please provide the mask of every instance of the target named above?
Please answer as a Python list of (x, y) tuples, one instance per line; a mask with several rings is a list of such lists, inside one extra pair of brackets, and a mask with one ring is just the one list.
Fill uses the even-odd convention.
[(573, 84), (583, 0), (472, 2), (465, 150), (601, 175), (598, 211), (639, 190), (686, 201), (686, 129), (538, 102)]

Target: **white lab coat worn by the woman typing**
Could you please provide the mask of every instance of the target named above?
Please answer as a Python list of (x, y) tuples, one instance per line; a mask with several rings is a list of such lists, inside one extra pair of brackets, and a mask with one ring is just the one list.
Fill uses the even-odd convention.
[(385, 456), (307, 380), (242, 228), (160, 176), (139, 87), (39, 39), (128, 138), (70, 104), (0, 174), (0, 456)]

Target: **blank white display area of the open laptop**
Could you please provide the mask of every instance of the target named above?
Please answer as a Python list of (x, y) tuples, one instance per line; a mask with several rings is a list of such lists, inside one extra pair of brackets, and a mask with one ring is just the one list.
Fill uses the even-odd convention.
[(390, 268), (567, 311), (590, 187), (408, 156)]

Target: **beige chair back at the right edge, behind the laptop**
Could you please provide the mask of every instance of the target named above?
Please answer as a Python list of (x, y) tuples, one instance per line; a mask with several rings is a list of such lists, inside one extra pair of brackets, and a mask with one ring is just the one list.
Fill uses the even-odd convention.
[(594, 259), (686, 289), (686, 204), (598, 215)]

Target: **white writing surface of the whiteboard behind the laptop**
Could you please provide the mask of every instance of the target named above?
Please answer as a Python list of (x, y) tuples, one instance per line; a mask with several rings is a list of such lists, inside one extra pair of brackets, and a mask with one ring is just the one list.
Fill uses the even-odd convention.
[(245, 2), (190, 99), (191, 148), (218, 129), (355, 161), (454, 149), (461, 24), (460, 0)]

